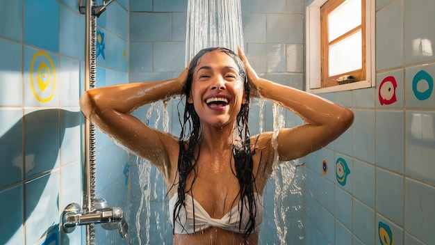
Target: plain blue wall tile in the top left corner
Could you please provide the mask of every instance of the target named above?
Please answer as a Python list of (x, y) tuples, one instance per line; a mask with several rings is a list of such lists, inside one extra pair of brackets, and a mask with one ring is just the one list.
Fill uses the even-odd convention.
[(21, 42), (22, 1), (1, 1), (0, 23), (7, 23), (0, 26), (0, 36)]

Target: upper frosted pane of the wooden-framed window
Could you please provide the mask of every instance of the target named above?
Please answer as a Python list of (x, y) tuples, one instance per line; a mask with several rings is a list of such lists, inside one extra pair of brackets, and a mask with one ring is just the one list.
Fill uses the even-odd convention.
[(361, 0), (346, 0), (328, 15), (328, 42), (361, 25)]

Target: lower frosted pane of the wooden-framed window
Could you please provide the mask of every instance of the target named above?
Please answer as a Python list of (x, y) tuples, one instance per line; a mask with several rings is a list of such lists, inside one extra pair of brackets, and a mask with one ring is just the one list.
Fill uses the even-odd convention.
[(361, 30), (329, 46), (329, 76), (362, 68)]

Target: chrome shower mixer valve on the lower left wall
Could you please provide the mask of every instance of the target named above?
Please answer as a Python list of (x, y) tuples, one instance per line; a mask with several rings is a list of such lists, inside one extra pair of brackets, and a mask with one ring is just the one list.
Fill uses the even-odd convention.
[(63, 230), (66, 233), (73, 232), (76, 226), (101, 223), (106, 230), (118, 229), (122, 238), (129, 235), (129, 225), (124, 219), (124, 212), (120, 207), (107, 207), (105, 199), (96, 199), (95, 207), (90, 212), (82, 212), (77, 203), (70, 203), (63, 210)]

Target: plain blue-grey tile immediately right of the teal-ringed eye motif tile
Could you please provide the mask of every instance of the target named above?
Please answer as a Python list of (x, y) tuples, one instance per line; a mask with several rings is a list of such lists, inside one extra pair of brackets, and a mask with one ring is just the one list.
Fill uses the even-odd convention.
[(353, 170), (354, 197), (375, 208), (375, 166), (354, 159)]

